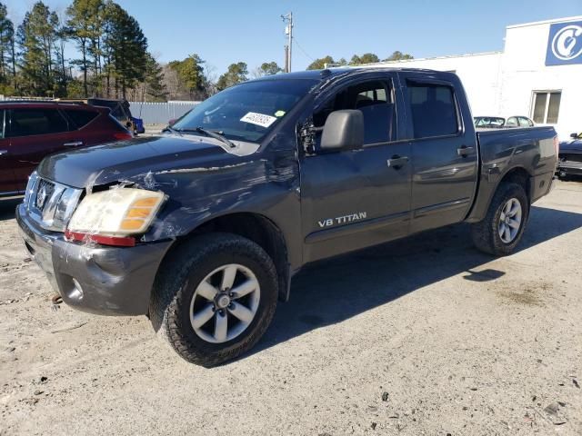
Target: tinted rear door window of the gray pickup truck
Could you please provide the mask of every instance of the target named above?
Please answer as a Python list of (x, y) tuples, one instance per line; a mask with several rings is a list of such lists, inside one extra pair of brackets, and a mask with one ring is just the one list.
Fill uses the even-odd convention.
[(408, 101), (416, 139), (457, 134), (457, 105), (452, 87), (408, 83)]

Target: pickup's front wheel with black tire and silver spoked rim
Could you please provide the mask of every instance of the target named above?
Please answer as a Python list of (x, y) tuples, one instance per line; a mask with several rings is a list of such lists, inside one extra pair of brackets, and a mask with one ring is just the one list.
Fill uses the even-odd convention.
[[(255, 280), (257, 286), (255, 291), (239, 299), (231, 292), (230, 303), (225, 305), (223, 300), (229, 300), (222, 291), (223, 283), (228, 282), (226, 269), (233, 268), (236, 268), (233, 292), (242, 289), (241, 283), (251, 283), (253, 287)], [(207, 300), (208, 282), (218, 291), (210, 300)], [(259, 245), (236, 234), (204, 234), (176, 248), (162, 263), (150, 300), (150, 320), (156, 332), (182, 358), (210, 368), (250, 350), (263, 336), (275, 314), (277, 283), (275, 264)], [(239, 293), (243, 292), (246, 291)], [(210, 314), (210, 306), (213, 318), (196, 328)], [(243, 309), (255, 311), (252, 321), (248, 321), (248, 312), (244, 311), (245, 317), (241, 316), (239, 311)], [(219, 329), (219, 321), (220, 325), (227, 325), (226, 335), (224, 329)], [(235, 336), (230, 339), (232, 335)]]

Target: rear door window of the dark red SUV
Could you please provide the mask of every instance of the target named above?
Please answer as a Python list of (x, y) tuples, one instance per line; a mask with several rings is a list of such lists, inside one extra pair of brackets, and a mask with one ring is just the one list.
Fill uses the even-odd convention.
[(58, 134), (68, 130), (63, 115), (56, 109), (13, 109), (7, 136)]

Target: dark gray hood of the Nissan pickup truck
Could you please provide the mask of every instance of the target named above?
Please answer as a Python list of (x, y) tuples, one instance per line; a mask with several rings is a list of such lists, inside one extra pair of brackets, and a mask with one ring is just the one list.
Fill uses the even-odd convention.
[(258, 144), (243, 142), (229, 148), (214, 138), (195, 134), (161, 134), (53, 154), (37, 171), (58, 183), (91, 188), (140, 174), (232, 165), (257, 149)]

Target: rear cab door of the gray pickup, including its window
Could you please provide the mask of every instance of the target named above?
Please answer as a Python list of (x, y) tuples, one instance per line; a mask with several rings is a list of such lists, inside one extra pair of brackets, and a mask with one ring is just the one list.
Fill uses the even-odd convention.
[(475, 127), (462, 116), (470, 114), (467, 97), (456, 76), (451, 82), (402, 76), (414, 164), (411, 230), (460, 222), (473, 203), (478, 173)]

